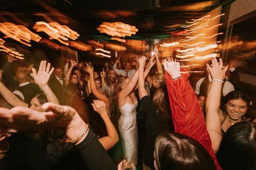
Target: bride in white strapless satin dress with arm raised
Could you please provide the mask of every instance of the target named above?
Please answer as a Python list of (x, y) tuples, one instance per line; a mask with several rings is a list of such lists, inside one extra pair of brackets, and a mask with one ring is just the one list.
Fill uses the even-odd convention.
[(118, 77), (116, 81), (117, 103), (121, 113), (118, 121), (124, 157), (131, 157), (136, 163), (138, 160), (138, 130), (136, 108), (138, 101), (133, 90), (138, 81), (138, 70), (129, 81), (128, 77)]

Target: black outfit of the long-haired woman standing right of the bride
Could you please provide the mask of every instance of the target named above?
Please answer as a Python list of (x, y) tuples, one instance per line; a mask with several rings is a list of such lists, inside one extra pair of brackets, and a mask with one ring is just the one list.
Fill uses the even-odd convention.
[(149, 96), (144, 96), (140, 100), (140, 106), (137, 112), (137, 121), (146, 120), (146, 141), (143, 150), (143, 161), (145, 165), (154, 168), (154, 143), (157, 136), (165, 131), (173, 131), (171, 118), (163, 112), (158, 111)]

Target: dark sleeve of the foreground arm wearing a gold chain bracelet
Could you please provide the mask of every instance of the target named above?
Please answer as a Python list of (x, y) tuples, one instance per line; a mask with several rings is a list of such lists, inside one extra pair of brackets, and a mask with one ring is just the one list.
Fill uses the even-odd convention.
[(75, 146), (75, 149), (80, 153), (86, 167), (90, 170), (117, 169), (116, 164), (91, 129), (82, 143)]

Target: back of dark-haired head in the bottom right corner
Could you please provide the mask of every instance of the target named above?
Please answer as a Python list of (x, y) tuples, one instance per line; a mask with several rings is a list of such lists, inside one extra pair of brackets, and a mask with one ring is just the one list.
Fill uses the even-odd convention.
[(220, 143), (217, 158), (223, 169), (256, 169), (256, 123), (232, 125)]

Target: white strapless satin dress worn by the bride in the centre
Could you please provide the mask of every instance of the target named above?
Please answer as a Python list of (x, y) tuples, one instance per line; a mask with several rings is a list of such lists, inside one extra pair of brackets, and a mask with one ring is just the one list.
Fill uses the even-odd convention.
[(136, 121), (136, 104), (126, 103), (119, 108), (121, 112), (118, 128), (122, 138), (124, 157), (131, 157), (137, 164), (138, 160), (138, 129)]

